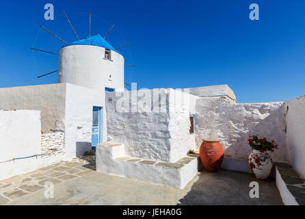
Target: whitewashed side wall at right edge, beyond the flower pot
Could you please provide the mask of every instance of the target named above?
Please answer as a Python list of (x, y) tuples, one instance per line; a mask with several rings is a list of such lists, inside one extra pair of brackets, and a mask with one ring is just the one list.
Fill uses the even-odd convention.
[(287, 145), (291, 147), (291, 164), (305, 179), (305, 96), (287, 101)]

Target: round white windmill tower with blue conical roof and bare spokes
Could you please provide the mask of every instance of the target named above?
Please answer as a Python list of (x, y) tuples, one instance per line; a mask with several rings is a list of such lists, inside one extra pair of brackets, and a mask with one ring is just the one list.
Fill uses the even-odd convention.
[(31, 48), (31, 50), (59, 55), (59, 68), (49, 73), (44, 73), (40, 77), (58, 73), (59, 83), (74, 83), (79, 86), (85, 86), (94, 89), (124, 89), (124, 66), (132, 66), (133, 64), (124, 64), (124, 57), (118, 51), (123, 47), (129, 46), (129, 43), (123, 44), (120, 47), (111, 47), (105, 40), (111, 33), (114, 25), (111, 26), (104, 37), (101, 35), (91, 36), (91, 12), (89, 13), (89, 36), (85, 39), (80, 39), (70, 22), (66, 12), (63, 12), (68, 24), (70, 25), (77, 41), (66, 42), (59, 38), (52, 31), (40, 25), (40, 28), (47, 31), (53, 37), (60, 40), (65, 45), (59, 50), (59, 53), (46, 51), (43, 49)]

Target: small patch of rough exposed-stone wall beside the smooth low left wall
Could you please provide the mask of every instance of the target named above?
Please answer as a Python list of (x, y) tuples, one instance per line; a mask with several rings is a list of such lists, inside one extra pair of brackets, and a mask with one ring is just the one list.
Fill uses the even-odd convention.
[(64, 140), (63, 132), (42, 134), (41, 153), (44, 154), (42, 158), (62, 159), (66, 151)]

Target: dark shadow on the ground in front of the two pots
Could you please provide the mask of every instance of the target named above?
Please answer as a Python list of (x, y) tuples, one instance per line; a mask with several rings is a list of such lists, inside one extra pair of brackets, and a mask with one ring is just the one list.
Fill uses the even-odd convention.
[[(250, 198), (250, 182), (257, 181), (259, 198)], [(201, 170), (198, 180), (178, 205), (282, 205), (282, 198), (272, 177), (258, 180), (246, 172)]]

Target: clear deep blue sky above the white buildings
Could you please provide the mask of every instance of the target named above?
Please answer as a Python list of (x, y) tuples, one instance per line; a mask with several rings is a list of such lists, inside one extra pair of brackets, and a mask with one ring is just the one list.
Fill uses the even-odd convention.
[[(44, 21), (44, 4), (53, 3), (55, 20)], [(250, 21), (258, 3), (260, 21)], [(44, 25), (75, 41), (65, 11), (81, 38), (107, 37), (121, 49), (125, 81), (137, 88), (189, 88), (228, 84), (239, 103), (285, 101), (305, 94), (305, 1), (3, 1), (0, 13), (0, 87), (57, 83), (62, 42), (40, 30)], [(34, 55), (33, 55), (34, 54)]]

